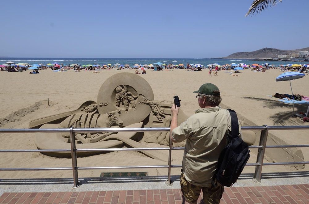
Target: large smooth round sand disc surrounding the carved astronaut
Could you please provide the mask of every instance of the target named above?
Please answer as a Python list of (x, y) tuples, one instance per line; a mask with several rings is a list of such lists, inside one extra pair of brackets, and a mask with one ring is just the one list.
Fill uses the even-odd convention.
[(133, 95), (143, 95), (148, 100), (154, 100), (154, 93), (149, 83), (132, 73), (119, 73), (114, 74), (102, 84), (100, 87), (97, 104), (108, 103), (106, 106), (99, 107), (98, 111), (100, 114), (105, 114), (115, 110), (122, 110), (120, 118), (123, 121), (123, 126), (131, 125), (143, 121), (151, 112), (151, 108), (146, 104), (139, 104), (139, 101), (145, 101), (143, 96), (138, 96), (136, 103), (136, 110), (133, 110), (131, 104), (129, 104), (129, 110), (125, 113), (124, 106), (120, 103), (120, 107), (116, 106), (116, 87), (126, 85), (128, 92)]

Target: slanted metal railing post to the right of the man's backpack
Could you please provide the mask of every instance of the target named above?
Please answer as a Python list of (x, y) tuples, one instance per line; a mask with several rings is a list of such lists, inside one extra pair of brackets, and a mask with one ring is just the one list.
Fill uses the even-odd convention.
[(265, 126), (266, 129), (261, 131), (260, 146), (262, 147), (259, 148), (259, 151), (257, 153), (257, 158), (256, 158), (256, 163), (259, 163), (260, 165), (255, 167), (254, 178), (252, 179), (256, 183), (261, 183), (263, 160), (264, 160), (266, 142), (267, 142), (267, 136), (268, 136), (268, 126), (267, 125), (263, 125), (263, 126)]

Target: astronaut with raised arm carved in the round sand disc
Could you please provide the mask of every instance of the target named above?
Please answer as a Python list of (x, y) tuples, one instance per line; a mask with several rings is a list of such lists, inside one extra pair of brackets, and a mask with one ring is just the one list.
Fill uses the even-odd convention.
[(125, 112), (127, 113), (129, 110), (129, 104), (131, 104), (131, 107), (133, 110), (136, 110), (135, 106), (135, 100), (133, 98), (133, 94), (131, 92), (128, 92), (127, 86), (124, 84), (121, 86), (116, 87), (116, 106), (119, 107), (120, 103), (122, 103), (125, 107)]

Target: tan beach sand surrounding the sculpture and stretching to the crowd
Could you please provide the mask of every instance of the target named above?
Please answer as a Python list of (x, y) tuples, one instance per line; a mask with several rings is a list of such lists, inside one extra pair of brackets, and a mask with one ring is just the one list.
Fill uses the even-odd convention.
[[(62, 113), (78, 108), (87, 100), (97, 100), (102, 83), (119, 72), (134, 73), (135, 70), (100, 70), (53, 72), (42, 70), (40, 74), (29, 72), (0, 72), (0, 128), (28, 128), (30, 120)], [(266, 73), (241, 70), (232, 76), (228, 71), (219, 71), (218, 76), (209, 76), (208, 70), (147, 70), (140, 74), (153, 89), (155, 100), (171, 103), (173, 96), (181, 99), (181, 109), (188, 116), (198, 107), (193, 91), (203, 83), (214, 83), (221, 91), (222, 104), (231, 107), (256, 125), (308, 125), (300, 118), (291, 118), (292, 105), (278, 102), (267, 95), (278, 93), (291, 94), (290, 83), (276, 82), (280, 70), (267, 70)], [(294, 94), (309, 96), (307, 85), (309, 77), (293, 80)], [(49, 98), (50, 106), (47, 105)], [(295, 112), (306, 112), (308, 105), (295, 104)], [(308, 130), (270, 131), (288, 144), (309, 144)], [(48, 134), (48, 133), (46, 133)], [(36, 149), (35, 134), (0, 134), (0, 149)], [(148, 147), (162, 147), (146, 143)], [(166, 147), (166, 146), (164, 146)], [(303, 151), (304, 160), (309, 160), (309, 151)], [(167, 151), (163, 151), (167, 154)], [(172, 164), (181, 164), (183, 151), (172, 151)], [(267, 155), (267, 151), (266, 151)], [(272, 158), (266, 156), (265, 162)], [(118, 151), (77, 159), (79, 167), (94, 166), (134, 166), (167, 165), (135, 151)], [(256, 162), (256, 153), (252, 152), (249, 163)], [(71, 159), (49, 157), (41, 153), (1, 153), (1, 168), (42, 168), (72, 167)], [(306, 167), (300, 171), (308, 170)], [(291, 171), (287, 166), (264, 166), (263, 172)], [(119, 170), (80, 170), (79, 177), (99, 177), (101, 172), (149, 172), (149, 175), (167, 175), (166, 168), (157, 169), (119, 169)], [(246, 167), (244, 172), (253, 173), (254, 167)], [(172, 175), (179, 175), (179, 168), (172, 168)], [(72, 171), (4, 171), (1, 178), (66, 178), (72, 177)]]

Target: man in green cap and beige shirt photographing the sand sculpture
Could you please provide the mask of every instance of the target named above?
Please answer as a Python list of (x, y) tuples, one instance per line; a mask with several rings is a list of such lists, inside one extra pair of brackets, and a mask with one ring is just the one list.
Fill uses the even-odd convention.
[[(219, 106), (220, 91), (214, 84), (205, 83), (193, 93), (198, 93), (200, 109), (178, 127), (178, 107), (174, 104), (171, 108), (172, 142), (187, 139), (180, 176), (181, 191), (188, 203), (196, 203), (201, 190), (204, 203), (219, 203), (224, 187), (219, 183), (212, 186), (212, 180), (219, 155), (227, 144), (227, 133), (231, 133), (231, 115)], [(238, 135), (242, 138), (240, 125)]]

